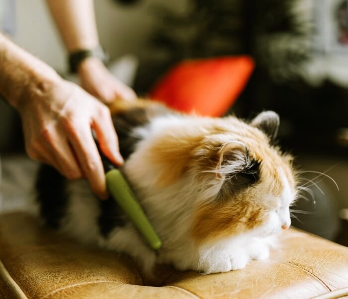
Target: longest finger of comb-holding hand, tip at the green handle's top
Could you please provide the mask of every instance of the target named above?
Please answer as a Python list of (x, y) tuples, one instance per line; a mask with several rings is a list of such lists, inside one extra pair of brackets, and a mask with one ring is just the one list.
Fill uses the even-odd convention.
[(79, 160), (80, 166), (88, 179), (92, 191), (102, 199), (106, 199), (104, 168), (95, 145), (90, 125), (75, 125), (69, 128), (69, 141)]

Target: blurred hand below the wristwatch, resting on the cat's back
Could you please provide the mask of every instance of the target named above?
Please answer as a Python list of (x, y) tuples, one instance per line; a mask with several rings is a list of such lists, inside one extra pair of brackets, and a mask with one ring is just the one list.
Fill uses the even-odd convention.
[(81, 86), (105, 104), (110, 104), (117, 98), (134, 100), (137, 97), (133, 89), (114, 77), (97, 58), (89, 57), (83, 60), (78, 73)]

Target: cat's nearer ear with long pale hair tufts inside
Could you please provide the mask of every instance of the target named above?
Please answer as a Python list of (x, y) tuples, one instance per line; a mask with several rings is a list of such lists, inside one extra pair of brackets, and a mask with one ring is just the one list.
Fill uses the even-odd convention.
[(219, 150), (217, 177), (231, 175), (243, 170), (248, 157), (247, 146), (241, 141), (230, 141), (222, 145)]

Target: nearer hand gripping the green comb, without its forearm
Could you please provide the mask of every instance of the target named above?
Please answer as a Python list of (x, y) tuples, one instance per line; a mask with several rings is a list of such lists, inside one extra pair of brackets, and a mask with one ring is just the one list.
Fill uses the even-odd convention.
[(92, 137), (116, 165), (123, 163), (109, 109), (76, 84), (62, 79), (36, 84), (18, 103), (28, 155), (55, 167), (68, 179), (87, 178), (107, 197), (102, 162)]

